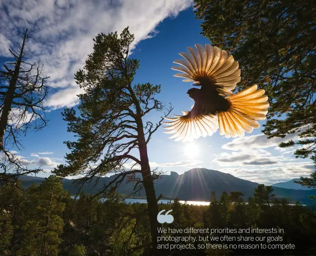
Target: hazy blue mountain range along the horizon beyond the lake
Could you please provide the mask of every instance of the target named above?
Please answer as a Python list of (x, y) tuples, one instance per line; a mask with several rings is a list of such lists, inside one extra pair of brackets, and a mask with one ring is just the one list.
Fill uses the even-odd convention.
[[(140, 174), (137, 174), (141, 178)], [(27, 178), (26, 178), (27, 177)], [(81, 191), (87, 194), (94, 194), (98, 189), (102, 188), (103, 184), (108, 184), (114, 180), (116, 175), (110, 177), (101, 178), (98, 184), (94, 187), (94, 182), (85, 184)], [(34, 180), (32, 180), (32, 178)], [(44, 178), (24, 176), (21, 178), (23, 188), (29, 187), (33, 182), (37, 184), (41, 183)], [(74, 180), (63, 179), (63, 187), (71, 194), (77, 194), (78, 188), (74, 187), (72, 182)], [(230, 193), (232, 191), (240, 191), (247, 200), (253, 196), (254, 188), (259, 183), (239, 179), (231, 174), (223, 173), (215, 170), (208, 170), (205, 168), (194, 168), (183, 174), (171, 172), (170, 175), (161, 175), (161, 177), (155, 181), (155, 190), (157, 196), (163, 194), (164, 197), (174, 199), (176, 196), (180, 200), (187, 201), (209, 201), (210, 193), (216, 191), (220, 196), (224, 191)], [(297, 184), (298, 185), (298, 184)], [(299, 185), (300, 186), (300, 185)], [(126, 183), (126, 179), (122, 182), (117, 192), (125, 195), (129, 195), (134, 189), (134, 184)], [(310, 202), (307, 195), (316, 195), (316, 189), (312, 190), (298, 190), (276, 187), (273, 185), (274, 194), (277, 198), (286, 198), (290, 202)], [(136, 196), (146, 196), (145, 191), (142, 190), (136, 194)]]

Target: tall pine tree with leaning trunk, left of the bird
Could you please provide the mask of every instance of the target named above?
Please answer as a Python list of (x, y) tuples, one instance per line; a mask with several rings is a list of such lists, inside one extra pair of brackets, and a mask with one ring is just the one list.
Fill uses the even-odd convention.
[[(155, 98), (160, 85), (150, 83), (133, 85), (139, 61), (129, 58), (134, 36), (128, 28), (120, 36), (117, 32), (98, 34), (94, 41), (94, 51), (88, 55), (85, 66), (75, 74), (76, 83), (84, 89), (79, 95), (76, 115), (74, 108), (65, 109), (64, 120), (68, 121), (68, 131), (78, 140), (65, 144), (71, 151), (66, 155), (67, 165), (60, 165), (54, 171), (57, 175), (79, 175), (79, 184), (98, 182), (101, 176), (116, 173), (116, 178), (97, 195), (108, 195), (126, 178), (135, 182), (135, 193), (144, 188), (148, 202), (152, 245), (157, 248), (158, 206), (154, 180), (159, 174), (150, 169), (147, 147), (155, 131), (161, 125), (147, 121), (144, 116), (152, 110), (169, 111)], [(166, 116), (167, 113), (164, 114)], [(135, 165), (129, 170), (127, 161)], [(139, 168), (137, 168), (139, 167)], [(136, 177), (140, 173), (142, 180)]]

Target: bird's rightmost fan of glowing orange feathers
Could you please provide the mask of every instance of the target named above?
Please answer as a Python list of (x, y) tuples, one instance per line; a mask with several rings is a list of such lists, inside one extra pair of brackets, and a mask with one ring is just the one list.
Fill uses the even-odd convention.
[(256, 120), (266, 119), (269, 103), (268, 96), (263, 95), (263, 89), (257, 90), (254, 84), (248, 89), (227, 97), (231, 102), (228, 111), (218, 114), (220, 134), (226, 138), (245, 136), (245, 131), (251, 133), (260, 124)]

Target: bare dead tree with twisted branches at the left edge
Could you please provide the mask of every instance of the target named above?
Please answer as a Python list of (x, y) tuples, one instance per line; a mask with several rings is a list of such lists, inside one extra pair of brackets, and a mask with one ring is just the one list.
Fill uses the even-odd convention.
[(24, 49), (29, 38), (27, 31), (20, 35), (22, 42), (17, 51), (9, 49), (15, 61), (4, 65), (8, 72), (0, 72), (3, 78), (0, 81), (0, 89), (3, 90), (0, 92), (0, 150), (6, 158), (5, 164), (1, 166), (5, 170), (4, 173), (8, 170), (6, 164), (16, 174), (38, 171), (28, 170), (23, 161), (12, 157), (8, 152), (12, 147), (23, 149), (18, 140), (19, 136), (26, 135), (30, 129), (41, 130), (48, 121), (43, 106), (48, 91), (45, 84), (48, 77), (42, 74), (43, 66), (40, 65), (40, 61), (31, 64), (24, 60)]

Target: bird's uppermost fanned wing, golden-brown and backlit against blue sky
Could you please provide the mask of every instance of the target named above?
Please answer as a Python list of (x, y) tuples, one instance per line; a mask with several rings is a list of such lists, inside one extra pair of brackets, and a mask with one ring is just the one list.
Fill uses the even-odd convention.
[(236, 84), (240, 82), (240, 69), (232, 55), (218, 47), (206, 44), (205, 47), (195, 44), (196, 49), (187, 47), (189, 53), (179, 53), (184, 59), (175, 60), (181, 66), (171, 69), (180, 71), (174, 76), (185, 78), (184, 82), (193, 82), (198, 85), (200, 81), (207, 80), (216, 86), (218, 92), (228, 96), (232, 94)]

